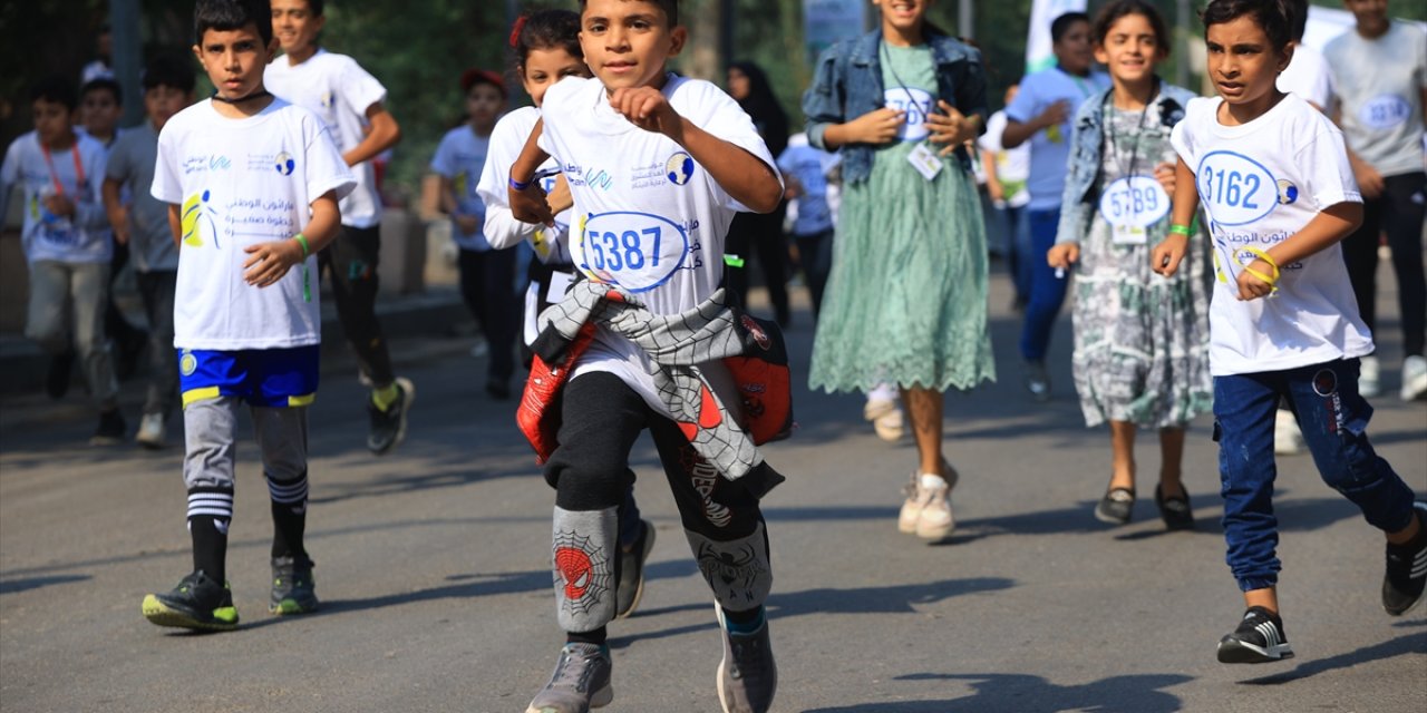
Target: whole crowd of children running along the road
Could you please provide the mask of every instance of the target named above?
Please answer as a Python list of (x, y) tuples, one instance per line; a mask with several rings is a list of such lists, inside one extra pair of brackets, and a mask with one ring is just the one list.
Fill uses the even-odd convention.
[[(1217, 96), (1199, 97), (1156, 71), (1170, 37), (1154, 6), (1113, 0), (1093, 19), (1057, 17), (1055, 66), (992, 114), (980, 53), (930, 23), (928, 1), (875, 4), (876, 29), (818, 58), (796, 134), (755, 64), (731, 64), (726, 91), (668, 70), (688, 40), (676, 0), (534, 11), (512, 29), (509, 71), (459, 76), (467, 120), (431, 158), (437, 204), (488, 345), (485, 392), (508, 399), (524, 355), (518, 421), (554, 489), (565, 640), (529, 710), (614, 697), (608, 626), (638, 605), (654, 545), (629, 468), (644, 429), (715, 599), (722, 707), (772, 704), (759, 499), (783, 476), (758, 446), (786, 435), (771, 414), (788, 394), (762, 392), (761, 418), (741, 405), (766, 386), (759, 374), (788, 368), (792, 264), (815, 319), (809, 385), (865, 392), (882, 438), (910, 431), (902, 532), (955, 529), (943, 395), (996, 379), (976, 164), (1036, 401), (1053, 396), (1046, 355), (1075, 297), (1075, 389), (1086, 425), (1110, 434), (1093, 515), (1132, 520), (1134, 439), (1153, 429), (1154, 505), (1169, 529), (1193, 528), (1186, 432), (1213, 414), (1227, 563), (1246, 606), (1219, 660), (1293, 656), (1277, 600), (1276, 452), (1310, 451), (1384, 532), (1383, 606), (1413, 607), (1427, 505), (1374, 453), (1366, 398), (1381, 388), (1381, 234), (1401, 299), (1400, 395), (1427, 394), (1423, 33), (1388, 20), (1386, 3), (1347, 0), (1356, 27), (1316, 54), (1301, 44), (1307, 3), (1212, 0), (1202, 20)], [(117, 442), (117, 381), (147, 348), (137, 441), (161, 446), (183, 406), (194, 566), (144, 599), (156, 625), (238, 625), (225, 555), (243, 406), (273, 502), (271, 612), (318, 606), (303, 535), (323, 274), (371, 385), (367, 446), (385, 453), (405, 435), (415, 388), (394, 374), (374, 317), (371, 167), (401, 128), (381, 83), (317, 44), (324, 21), (321, 0), (200, 0), (193, 53), (210, 98), (194, 103), (188, 61), (156, 58), (147, 121), (118, 130), (114, 80), (80, 91), (47, 80), (31, 97), (36, 130), (6, 153), (0, 198), (23, 190), (26, 334), (53, 355), (50, 394), (64, 394), (77, 361), (100, 414), (93, 441)], [(534, 106), (511, 110), (511, 83)], [(263, 160), (214, 154), (238, 138)], [(517, 251), (529, 255), (524, 295)], [(755, 261), (773, 321), (748, 312)], [(126, 262), (147, 331), (113, 304)]]

